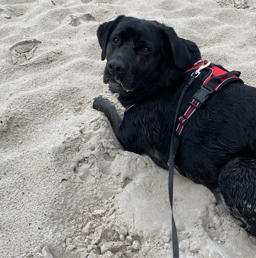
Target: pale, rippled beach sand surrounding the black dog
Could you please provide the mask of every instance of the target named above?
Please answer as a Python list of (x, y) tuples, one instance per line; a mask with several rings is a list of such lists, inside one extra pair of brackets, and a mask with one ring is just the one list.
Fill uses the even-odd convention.
[[(96, 30), (118, 14), (164, 22), (255, 86), (256, 1), (53, 2), (0, 1), (0, 256), (172, 256), (167, 171), (124, 151), (92, 109), (100, 95), (124, 111)], [(174, 179), (181, 256), (256, 256), (208, 189)]]

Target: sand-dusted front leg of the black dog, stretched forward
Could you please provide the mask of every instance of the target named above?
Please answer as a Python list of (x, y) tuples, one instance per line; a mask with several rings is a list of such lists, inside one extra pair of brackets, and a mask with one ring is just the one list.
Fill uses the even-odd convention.
[(118, 116), (115, 106), (111, 104), (108, 99), (97, 97), (94, 99), (92, 107), (101, 112), (104, 112), (113, 128), (117, 140), (122, 143), (119, 137), (119, 128), (121, 126), (122, 120)]

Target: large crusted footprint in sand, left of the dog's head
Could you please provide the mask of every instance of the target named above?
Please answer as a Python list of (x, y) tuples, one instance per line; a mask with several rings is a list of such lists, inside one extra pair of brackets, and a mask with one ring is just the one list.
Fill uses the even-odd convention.
[(33, 53), (37, 49), (38, 44), (42, 42), (37, 39), (28, 39), (21, 41), (13, 45), (10, 49), (11, 60), (9, 61), (12, 65), (20, 65), (31, 59)]

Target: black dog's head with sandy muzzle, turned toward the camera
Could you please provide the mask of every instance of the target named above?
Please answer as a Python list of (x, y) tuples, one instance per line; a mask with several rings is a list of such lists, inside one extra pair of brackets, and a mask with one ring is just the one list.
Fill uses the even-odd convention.
[(107, 58), (104, 82), (123, 96), (145, 90), (154, 94), (200, 58), (197, 47), (194, 57), (188, 47), (190, 41), (157, 21), (122, 15), (101, 24), (97, 36), (101, 59)]

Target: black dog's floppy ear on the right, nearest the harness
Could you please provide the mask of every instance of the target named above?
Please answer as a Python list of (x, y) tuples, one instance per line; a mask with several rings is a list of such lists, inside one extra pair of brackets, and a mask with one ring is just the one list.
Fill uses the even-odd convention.
[(164, 41), (164, 51), (173, 57), (175, 67), (180, 70), (187, 69), (191, 65), (191, 56), (186, 46), (172, 27), (161, 25), (159, 29)]

